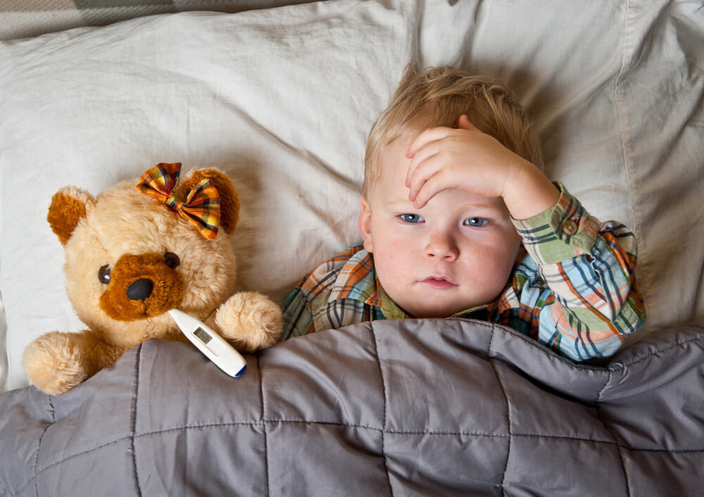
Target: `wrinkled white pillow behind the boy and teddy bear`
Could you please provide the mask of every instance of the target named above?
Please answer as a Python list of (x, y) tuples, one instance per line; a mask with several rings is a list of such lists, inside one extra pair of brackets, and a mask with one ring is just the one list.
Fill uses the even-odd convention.
[(225, 170), (239, 285), (281, 303), (358, 241), (366, 135), (415, 51), (513, 87), (548, 173), (639, 236), (651, 326), (702, 317), (704, 23), (666, 4), (337, 0), (0, 43), (6, 387), (26, 384), (32, 339), (82, 329), (45, 220), (56, 190), (96, 194), (159, 162)]

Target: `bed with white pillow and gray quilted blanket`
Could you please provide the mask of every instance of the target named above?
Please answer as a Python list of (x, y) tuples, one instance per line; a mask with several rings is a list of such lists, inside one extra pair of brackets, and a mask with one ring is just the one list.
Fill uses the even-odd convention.
[[(22, 4), (0, 8), (0, 496), (700, 492), (700, 1)], [(358, 241), (366, 134), (412, 58), (508, 84), (548, 175), (634, 230), (648, 322), (617, 356), (404, 320), (277, 344), (239, 379), (149, 340), (67, 394), (27, 387), (25, 346), (82, 328), (55, 191), (219, 168), (238, 287), (283, 303)]]

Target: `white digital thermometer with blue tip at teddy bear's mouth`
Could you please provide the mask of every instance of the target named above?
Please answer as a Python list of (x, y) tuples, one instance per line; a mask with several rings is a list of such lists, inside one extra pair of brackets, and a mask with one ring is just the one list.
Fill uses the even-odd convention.
[(228, 375), (238, 377), (247, 369), (244, 357), (213, 329), (178, 309), (170, 310), (169, 314), (187, 339)]

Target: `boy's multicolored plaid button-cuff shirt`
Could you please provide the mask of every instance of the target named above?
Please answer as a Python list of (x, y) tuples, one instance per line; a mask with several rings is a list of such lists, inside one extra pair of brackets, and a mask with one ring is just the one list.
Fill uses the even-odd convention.
[[(553, 208), (513, 220), (527, 256), (503, 293), (455, 316), (507, 325), (572, 360), (612, 356), (645, 319), (636, 240), (618, 222), (601, 225), (558, 187)], [(404, 317), (379, 284), (372, 254), (355, 245), (301, 279), (284, 303), (282, 339)]]

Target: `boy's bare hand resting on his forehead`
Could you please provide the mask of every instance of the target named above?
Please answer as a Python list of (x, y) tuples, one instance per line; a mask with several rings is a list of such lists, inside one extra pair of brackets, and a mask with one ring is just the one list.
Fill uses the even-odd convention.
[(477, 130), (466, 115), (457, 129), (434, 127), (419, 134), (406, 157), (411, 159), (408, 199), (416, 208), (447, 189), (501, 196), (515, 219), (537, 215), (558, 200), (558, 189), (538, 168)]

